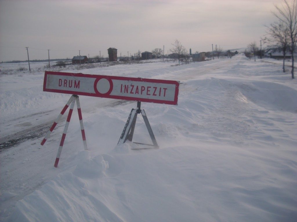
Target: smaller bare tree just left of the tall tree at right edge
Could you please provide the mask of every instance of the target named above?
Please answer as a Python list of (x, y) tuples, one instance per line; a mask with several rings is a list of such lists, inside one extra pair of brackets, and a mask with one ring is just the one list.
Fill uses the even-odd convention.
[(282, 22), (274, 22), (268, 28), (267, 35), (269, 37), (264, 38), (264, 42), (268, 43), (271, 48), (278, 49), (282, 52), (282, 70), (285, 72), (285, 56), (290, 44), (290, 32), (288, 27)]

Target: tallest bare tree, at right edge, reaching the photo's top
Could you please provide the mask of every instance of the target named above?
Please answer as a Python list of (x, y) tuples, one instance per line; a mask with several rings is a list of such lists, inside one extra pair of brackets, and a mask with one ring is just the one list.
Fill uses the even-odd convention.
[(285, 5), (282, 8), (275, 6), (278, 13), (274, 13), (275, 17), (284, 22), (290, 33), (290, 52), (292, 55), (292, 79), (294, 78), (294, 51), (297, 43), (297, 0), (292, 0), (289, 4), (287, 0), (283, 0)]

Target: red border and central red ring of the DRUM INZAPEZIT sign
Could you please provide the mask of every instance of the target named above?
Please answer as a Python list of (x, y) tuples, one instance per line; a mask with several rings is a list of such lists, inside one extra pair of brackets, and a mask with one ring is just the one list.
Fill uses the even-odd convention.
[[(160, 100), (160, 99), (144, 99), (144, 98), (129, 97), (129, 96), (114, 96), (114, 95), (109, 95), (108, 93), (100, 94), (98, 92), (85, 93), (85, 92), (77, 92), (77, 91), (69, 91), (69, 90), (46, 89), (46, 79), (48, 74), (95, 78), (96, 84), (97, 84), (97, 81), (99, 81), (99, 79), (101, 78), (105, 78), (109, 82), (112, 82), (112, 80), (115, 79), (115, 80), (125, 80), (125, 81), (174, 84), (175, 85), (174, 101), (167, 101), (167, 100)], [(94, 89), (95, 88), (96, 87), (94, 87)], [(179, 89), (179, 82), (173, 81), (173, 80), (145, 79), (145, 78), (121, 77), (121, 76), (110, 76), (110, 75), (91, 75), (91, 74), (83, 74), (83, 73), (63, 73), (63, 72), (52, 72), (52, 71), (45, 71), (44, 81), (43, 81), (43, 91), (46, 91), (46, 92), (66, 93), (66, 94), (75, 94), (75, 95), (82, 95), (82, 96), (95, 96), (95, 97), (111, 98), (111, 99), (124, 99), (124, 100), (140, 101), (140, 102), (153, 102), (153, 103), (161, 103), (161, 104), (169, 104), (169, 105), (177, 105), (178, 89)]]

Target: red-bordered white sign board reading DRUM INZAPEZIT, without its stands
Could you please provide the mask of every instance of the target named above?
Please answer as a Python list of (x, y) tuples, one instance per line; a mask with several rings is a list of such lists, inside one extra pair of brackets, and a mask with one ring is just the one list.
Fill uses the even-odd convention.
[(179, 82), (45, 71), (43, 91), (177, 105)]

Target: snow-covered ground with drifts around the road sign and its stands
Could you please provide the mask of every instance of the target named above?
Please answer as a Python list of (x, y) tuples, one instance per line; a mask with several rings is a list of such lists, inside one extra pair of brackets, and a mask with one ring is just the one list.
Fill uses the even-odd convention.
[[(136, 102), (80, 96), (89, 150), (75, 109), (58, 168), (66, 117), (40, 142), (70, 95), (43, 92), (44, 72), (0, 75), (1, 141), (10, 141), (1, 145), (0, 220), (297, 221), (290, 70), (242, 55), (174, 64), (63, 70), (181, 84), (178, 106), (142, 103), (159, 149), (117, 146)], [(138, 118), (133, 141), (149, 140)]]

